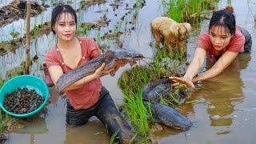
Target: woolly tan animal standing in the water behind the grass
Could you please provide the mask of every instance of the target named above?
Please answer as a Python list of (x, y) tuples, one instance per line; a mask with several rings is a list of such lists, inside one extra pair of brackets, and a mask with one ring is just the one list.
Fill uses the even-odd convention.
[(158, 17), (151, 22), (151, 31), (156, 41), (156, 48), (159, 49), (160, 42), (162, 44), (165, 42), (171, 56), (173, 56), (172, 46), (177, 46), (180, 53), (186, 52), (186, 39), (190, 30), (190, 23), (177, 23), (167, 17)]

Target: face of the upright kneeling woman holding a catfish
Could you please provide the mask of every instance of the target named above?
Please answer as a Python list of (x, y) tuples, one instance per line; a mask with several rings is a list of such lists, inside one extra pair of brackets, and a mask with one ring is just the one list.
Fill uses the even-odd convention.
[(76, 23), (70, 13), (62, 13), (54, 26), (54, 31), (62, 41), (70, 41), (74, 38)]

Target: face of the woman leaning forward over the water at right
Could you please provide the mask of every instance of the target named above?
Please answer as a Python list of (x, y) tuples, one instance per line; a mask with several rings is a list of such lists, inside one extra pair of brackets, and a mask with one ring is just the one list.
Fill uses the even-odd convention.
[(215, 50), (223, 50), (231, 40), (232, 36), (223, 26), (214, 26), (210, 29), (210, 42)]

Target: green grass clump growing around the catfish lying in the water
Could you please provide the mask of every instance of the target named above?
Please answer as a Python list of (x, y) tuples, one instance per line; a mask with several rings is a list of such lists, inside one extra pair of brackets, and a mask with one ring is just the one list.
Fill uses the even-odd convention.
[[(150, 124), (154, 124), (154, 118), (150, 111), (150, 102), (147, 102), (149, 108), (144, 106), (145, 100), (142, 99), (142, 88), (148, 82), (170, 76), (170, 67), (168, 67), (167, 61), (162, 61), (163, 58), (170, 58), (170, 54), (166, 50), (158, 51), (150, 66), (135, 66), (133, 69), (124, 72), (118, 80), (118, 86), (122, 89), (126, 99), (123, 104), (126, 115), (136, 127), (138, 135), (142, 137), (150, 134)], [(174, 58), (179, 59), (180, 56)], [(159, 97), (163, 104), (179, 105), (177, 95), (173, 94), (173, 92), (169, 94), (168, 99), (162, 98), (160, 94)], [(143, 140), (145, 141), (145, 139)]]

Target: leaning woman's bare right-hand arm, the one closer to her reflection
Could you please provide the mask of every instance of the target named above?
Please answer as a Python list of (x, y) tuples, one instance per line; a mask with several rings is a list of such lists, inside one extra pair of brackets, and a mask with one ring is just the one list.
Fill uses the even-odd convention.
[(224, 54), (222, 54), (222, 57), (218, 59), (218, 61), (214, 64), (213, 67), (210, 68), (210, 70), (207, 70), (200, 76), (193, 79), (193, 81), (202, 81), (209, 78), (213, 78), (217, 76), (218, 74), (221, 74), (223, 70), (226, 69), (227, 66), (230, 65), (231, 62), (234, 61), (234, 58), (236, 58), (238, 53), (226, 51)]

